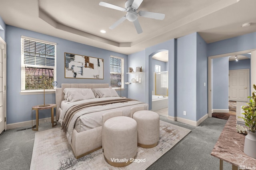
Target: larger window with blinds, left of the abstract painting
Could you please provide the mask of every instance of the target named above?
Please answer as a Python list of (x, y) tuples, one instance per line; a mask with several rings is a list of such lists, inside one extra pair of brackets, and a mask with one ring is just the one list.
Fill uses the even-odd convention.
[(21, 90), (54, 89), (56, 43), (22, 36)]

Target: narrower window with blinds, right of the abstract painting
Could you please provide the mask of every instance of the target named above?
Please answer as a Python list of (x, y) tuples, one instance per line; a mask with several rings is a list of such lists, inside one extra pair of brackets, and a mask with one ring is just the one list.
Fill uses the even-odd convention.
[(120, 88), (118, 82), (121, 82), (121, 88), (124, 88), (124, 59), (110, 56), (110, 86)]

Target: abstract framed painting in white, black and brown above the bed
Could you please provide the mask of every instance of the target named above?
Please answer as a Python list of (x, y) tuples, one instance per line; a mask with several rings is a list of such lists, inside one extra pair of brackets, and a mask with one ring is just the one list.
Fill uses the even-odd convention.
[(103, 59), (64, 53), (65, 78), (92, 78), (103, 79)]

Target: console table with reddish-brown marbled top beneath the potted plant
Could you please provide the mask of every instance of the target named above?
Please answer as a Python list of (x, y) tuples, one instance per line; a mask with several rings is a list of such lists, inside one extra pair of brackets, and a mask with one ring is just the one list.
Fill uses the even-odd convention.
[(220, 159), (220, 170), (223, 160), (232, 164), (232, 170), (256, 169), (256, 159), (244, 153), (245, 135), (236, 132), (236, 116), (230, 116), (211, 155)]

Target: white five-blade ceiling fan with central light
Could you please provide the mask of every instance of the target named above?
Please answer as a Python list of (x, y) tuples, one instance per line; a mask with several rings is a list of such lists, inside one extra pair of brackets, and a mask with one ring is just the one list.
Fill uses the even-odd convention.
[(127, 0), (124, 4), (125, 8), (122, 8), (120, 6), (116, 6), (113, 4), (109, 4), (106, 2), (100, 2), (100, 6), (104, 6), (107, 8), (112, 8), (114, 10), (119, 10), (123, 12), (127, 12), (126, 16), (123, 16), (119, 20), (117, 20), (113, 25), (111, 25), (109, 28), (114, 29), (116, 26), (118, 26), (120, 23), (122, 23), (124, 20), (128, 20), (134, 23), (134, 26), (136, 28), (136, 31), (138, 34), (142, 33), (142, 28), (140, 26), (140, 23), (138, 21), (138, 15), (146, 18), (153, 18), (156, 20), (164, 20), (165, 15), (161, 13), (156, 12), (148, 12), (148, 11), (139, 11), (137, 12), (140, 4), (143, 0)]

